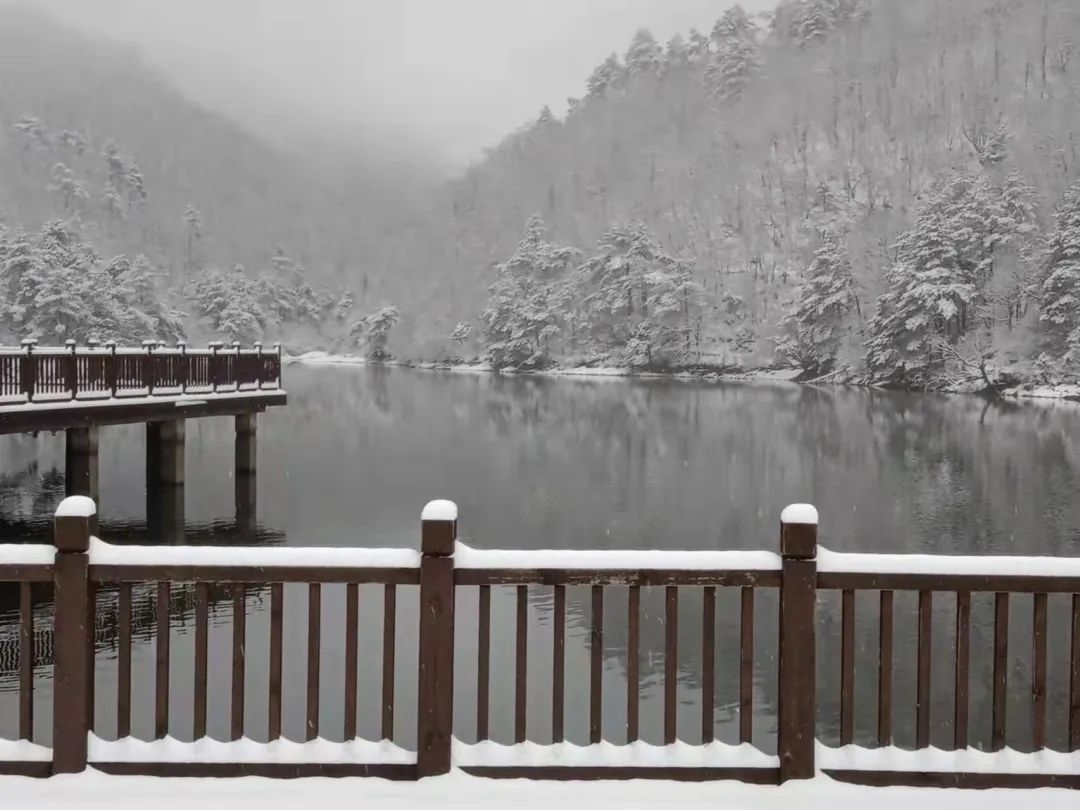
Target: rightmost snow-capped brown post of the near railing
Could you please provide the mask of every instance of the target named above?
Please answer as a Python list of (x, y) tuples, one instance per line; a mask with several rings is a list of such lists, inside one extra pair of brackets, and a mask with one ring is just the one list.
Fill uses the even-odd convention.
[(818, 510), (806, 503), (780, 515), (780, 781), (814, 775)]

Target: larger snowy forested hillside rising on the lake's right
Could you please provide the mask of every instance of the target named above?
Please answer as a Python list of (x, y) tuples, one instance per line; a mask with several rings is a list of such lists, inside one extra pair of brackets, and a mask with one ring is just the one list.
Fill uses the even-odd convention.
[(1075, 372), (1080, 4), (717, 5), (711, 30), (639, 31), (379, 244), (394, 342), (903, 384)]

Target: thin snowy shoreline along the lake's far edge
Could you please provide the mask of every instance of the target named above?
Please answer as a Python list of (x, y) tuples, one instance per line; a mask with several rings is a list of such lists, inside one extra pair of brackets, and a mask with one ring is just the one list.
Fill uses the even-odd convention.
[[(354, 354), (330, 354), (328, 352), (312, 351), (305, 354), (284, 357), (286, 364), (298, 363), (301, 365), (368, 365), (367, 360)], [(375, 365), (375, 364), (373, 364)], [(389, 361), (378, 365), (393, 366), (399, 368), (411, 368), (421, 372), (448, 372), (453, 374), (503, 374), (507, 376), (528, 376), (528, 377), (577, 377), (583, 379), (670, 379), (693, 382), (758, 382), (758, 383), (786, 383), (793, 386), (836, 386), (854, 388), (878, 388), (869, 383), (852, 381), (832, 381), (827, 379), (798, 380), (801, 372), (797, 368), (748, 368), (743, 372), (634, 372), (630, 368), (617, 366), (564, 366), (555, 368), (544, 368), (542, 370), (499, 370), (497, 372), (487, 363), (440, 363), (434, 361)], [(973, 394), (978, 392), (964, 390), (942, 390), (922, 392), (918, 389), (897, 389), (913, 393), (939, 393), (939, 394)], [(997, 394), (998, 397), (1014, 401), (1028, 401), (1034, 404), (1038, 401), (1041, 404), (1080, 404), (1080, 383), (1056, 383), (1045, 386), (1017, 386), (1004, 389)]]

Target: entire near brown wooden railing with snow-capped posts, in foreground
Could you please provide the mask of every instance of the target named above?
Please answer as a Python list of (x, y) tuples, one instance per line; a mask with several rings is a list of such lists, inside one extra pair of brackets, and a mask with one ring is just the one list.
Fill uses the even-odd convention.
[[(661, 552), (661, 551), (482, 551), (457, 540), (457, 508), (434, 501), (421, 518), (419, 551), (402, 549), (255, 549), (152, 548), (110, 545), (94, 537), (94, 504), (69, 498), (60, 504), (55, 522), (55, 548), (0, 545), (0, 581), (19, 582), (19, 627), (23, 654), (18, 671), (18, 741), (0, 741), (0, 773), (50, 775), (81, 771), (87, 766), (111, 773), (176, 775), (378, 775), (417, 779), (445, 773), (451, 768), (492, 778), (531, 779), (737, 779), (775, 784), (807, 779), (823, 772), (834, 779), (870, 785), (915, 784), (967, 787), (1080, 787), (1080, 559), (1032, 557), (947, 557), (915, 555), (836, 554), (818, 546), (818, 515), (811, 507), (796, 505), (781, 516), (780, 553), (772, 552)], [(51, 747), (33, 735), (35, 616), (31, 588), (52, 584), (55, 603), (56, 658)], [(132, 738), (132, 588), (149, 586), (156, 594), (153, 665), (153, 739)], [(146, 584), (149, 583), (149, 584)], [(175, 667), (170, 656), (170, 599), (173, 589), (194, 589), (193, 687), (190, 742), (172, 734), (170, 683)], [(283, 711), (283, 585), (299, 583), (307, 591), (307, 657), (305, 734), (302, 740), (282, 738)], [(345, 586), (343, 638), (323, 638), (323, 586)], [(381, 680), (357, 678), (361, 585), (383, 590)], [(505, 658), (513, 660), (513, 744), (488, 739), (491, 703), (491, 589), (514, 589), (515, 640)], [(589, 649), (589, 742), (567, 742), (567, 589), (589, 589), (591, 607)], [(95, 733), (94, 666), (91, 620), (95, 592), (117, 589), (119, 642), (117, 654), (117, 717), (114, 739)], [(245, 706), (253, 696), (245, 691), (249, 632), (246, 626), (248, 591), (269, 589), (269, 644), (265, 697), (267, 724), (252, 729)], [(231, 594), (231, 669), (229, 729), (226, 740), (206, 737), (207, 623), (211, 589)], [(418, 656), (416, 673), (416, 748), (395, 741), (396, 591), (418, 591)], [(663, 593), (664, 644), (662, 703), (663, 742), (650, 745), (640, 737), (642, 676), (639, 644), (643, 634), (642, 590)], [(738, 644), (725, 650), (717, 645), (717, 595), (735, 592), (740, 606)], [(550, 696), (551, 744), (530, 742), (528, 727), (529, 678), (528, 618), (530, 598), (548, 597), (553, 605)], [(618, 591), (625, 592), (626, 626), (605, 621)], [(764, 650), (777, 660), (778, 690), (774, 725), (775, 754), (762, 750), (755, 737), (755, 603), (761, 591), (779, 595), (775, 639)], [(877, 733), (876, 745), (855, 745), (855, 598), (859, 592), (877, 594)], [(892, 711), (896, 703), (893, 672), (896, 665), (893, 600), (896, 592), (918, 594), (916, 662), (916, 745), (901, 750), (894, 743)], [(694, 598), (689, 594), (694, 593)], [(839, 704), (832, 717), (832, 698), (823, 693), (818, 676), (819, 633), (832, 622), (827, 604), (836, 592), (840, 602)], [(969, 745), (969, 696), (973, 670), (971, 634), (972, 594), (994, 594), (991, 745), (978, 751)], [(475, 594), (475, 596), (473, 596)], [(700, 603), (697, 596), (700, 594)], [(1017, 594), (1030, 595), (1031, 688), (1029, 691), (1030, 745), (1027, 753), (1008, 748), (1005, 696), (1010, 686), (1008, 656), (1010, 606)], [(949, 721), (953, 751), (931, 746), (933, 717), (931, 612), (935, 596), (955, 606), (956, 632), (951, 638), (953, 675)], [(1047, 747), (1048, 717), (1048, 599), (1066, 598), (1068, 605), (1067, 743), (1059, 751)], [(463, 632), (456, 622), (455, 604), (475, 598), (477, 623), (475, 717), (455, 716), (455, 636)], [(1026, 598), (1026, 597), (1025, 597)], [(688, 605), (701, 606), (700, 721), (680, 727), (678, 711), (680, 615)], [(610, 612), (608, 612), (610, 616)], [(696, 618), (696, 617), (691, 617)], [(625, 633), (626, 689), (605, 691), (605, 634)], [(650, 631), (651, 632), (651, 631)], [(292, 635), (292, 634), (291, 634)], [(1061, 640), (1061, 636), (1055, 636)], [(471, 639), (468, 639), (471, 642)], [(321, 677), (325, 647), (343, 649), (342, 693), (327, 696)], [(698, 644), (693, 645), (694, 647)], [(536, 645), (532, 645), (534, 651)], [(940, 650), (940, 646), (939, 646)], [(496, 650), (502, 654), (502, 650)], [(738, 744), (714, 739), (717, 712), (717, 652), (738, 660)], [(469, 663), (471, 669), (472, 662)], [(824, 661), (824, 664), (835, 662)], [(864, 675), (865, 678), (865, 675)], [(379, 680), (379, 679), (374, 679)], [(937, 678), (940, 684), (941, 678)], [(333, 681), (332, 681), (333, 683)], [(461, 685), (459, 684), (459, 687)], [(1013, 685), (1013, 688), (1015, 685)], [(379, 742), (357, 739), (357, 691), (377, 690), (380, 702)], [(864, 692), (865, 693), (865, 692)], [(327, 697), (342, 706), (340, 727), (321, 726), (321, 701)], [(545, 696), (546, 697), (546, 696)], [(625, 702), (625, 730), (621, 739), (604, 738), (603, 707)], [(819, 702), (825, 711), (819, 711)], [(940, 701), (939, 701), (940, 703)], [(535, 714), (534, 714), (535, 716)], [(98, 718), (100, 719), (100, 718)], [(110, 718), (111, 719), (111, 718)], [(186, 725), (186, 724), (185, 724)], [(400, 726), (401, 724), (397, 724)], [(819, 741), (822, 726), (839, 727), (839, 746)], [(542, 731), (548, 731), (543, 729)], [(458, 732), (456, 735), (455, 732)], [(265, 742), (255, 742), (258, 733)], [(474, 732), (474, 733), (472, 733)], [(343, 742), (329, 742), (323, 734)], [(465, 743), (462, 737), (475, 739)], [(540, 734), (546, 737), (546, 734)], [(684, 742), (693, 740), (694, 742)]]

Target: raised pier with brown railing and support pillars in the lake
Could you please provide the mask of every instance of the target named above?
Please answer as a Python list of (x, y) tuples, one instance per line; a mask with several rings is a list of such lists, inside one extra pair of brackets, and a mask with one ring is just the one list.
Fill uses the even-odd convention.
[[(284, 405), (281, 347), (211, 343), (189, 349), (145, 341), (39, 348), (32, 340), (0, 347), (0, 434), (64, 431), (68, 495), (99, 498), (98, 428), (146, 424), (146, 476), (152, 487), (184, 485), (188, 419), (235, 419), (238, 514), (254, 491), (256, 417)], [(252, 496), (253, 497), (253, 496)]]

